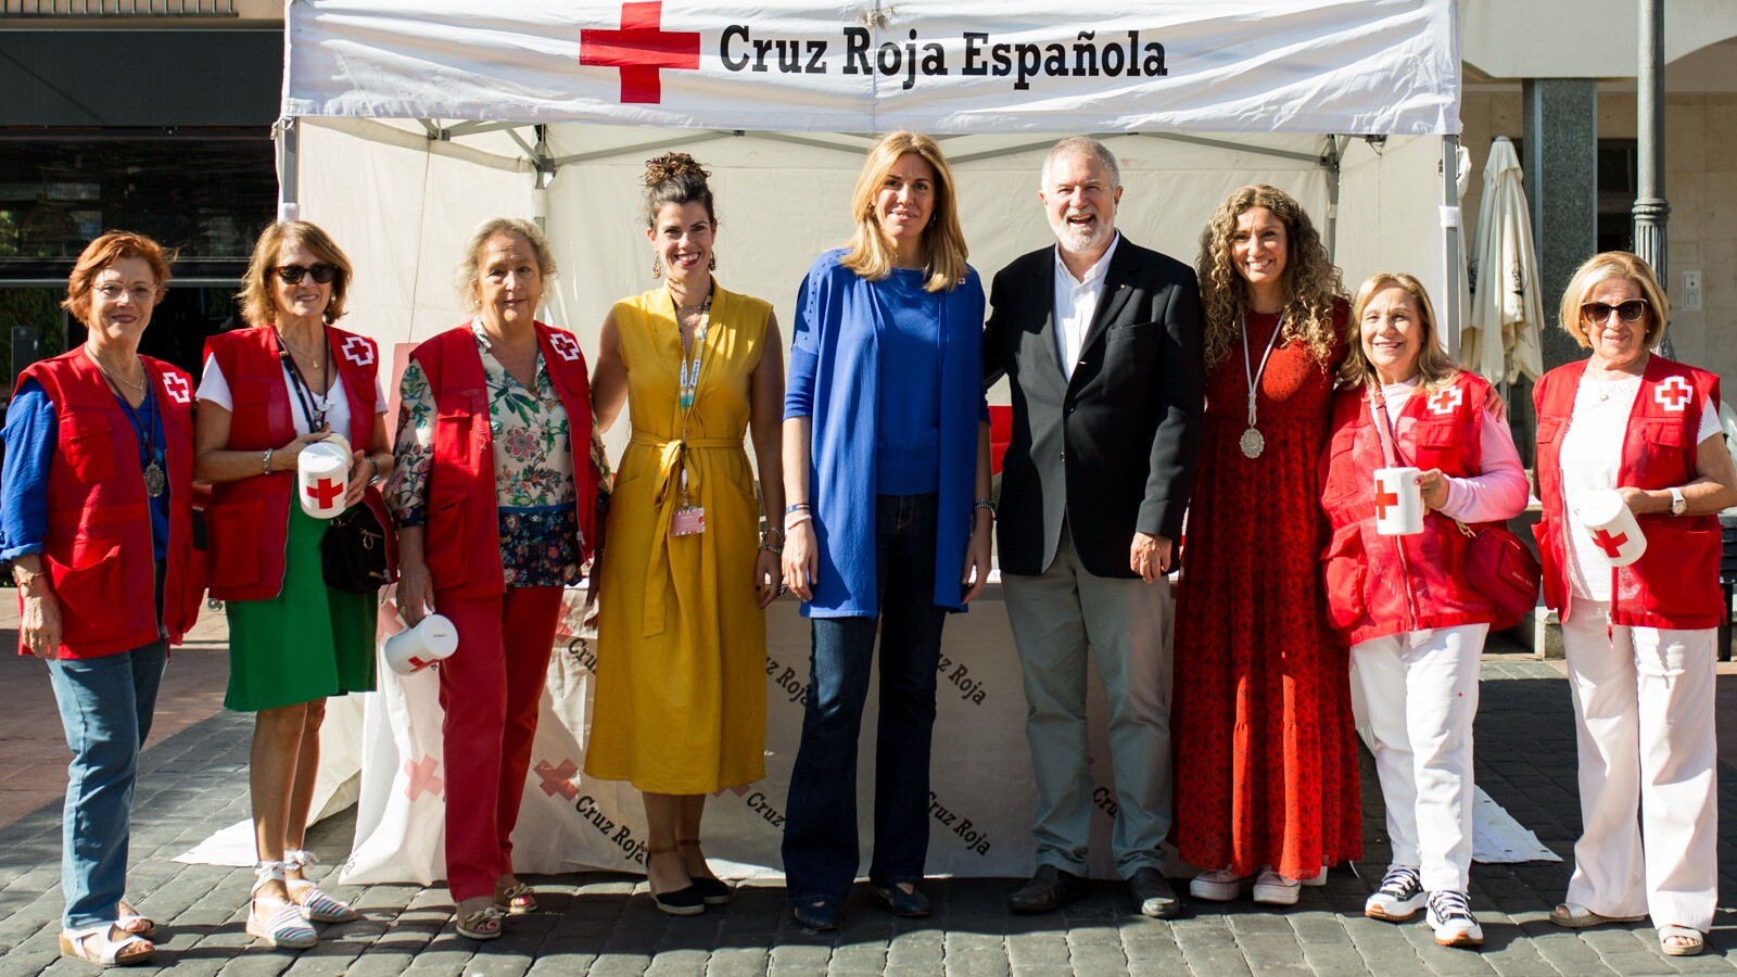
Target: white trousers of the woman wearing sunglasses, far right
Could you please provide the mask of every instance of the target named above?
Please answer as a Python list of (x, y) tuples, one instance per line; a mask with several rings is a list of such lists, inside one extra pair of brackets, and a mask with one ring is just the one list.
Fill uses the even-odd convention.
[(1575, 600), (1562, 626), (1582, 822), (1569, 902), (1704, 934), (1720, 885), (1718, 631), (1615, 626), (1607, 638), (1607, 610)]

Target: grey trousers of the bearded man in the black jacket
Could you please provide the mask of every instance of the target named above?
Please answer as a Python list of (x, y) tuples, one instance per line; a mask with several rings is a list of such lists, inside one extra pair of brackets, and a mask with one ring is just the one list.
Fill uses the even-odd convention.
[(1171, 829), (1171, 582), (1094, 577), (1080, 567), (1067, 523), (1056, 558), (1037, 577), (1002, 574), (1007, 621), (1025, 673), (1025, 739), (1032, 748), (1037, 864), (1086, 874), (1093, 779), (1086, 730), (1086, 647), (1110, 704), (1115, 827), (1110, 848), (1124, 878), (1164, 869)]

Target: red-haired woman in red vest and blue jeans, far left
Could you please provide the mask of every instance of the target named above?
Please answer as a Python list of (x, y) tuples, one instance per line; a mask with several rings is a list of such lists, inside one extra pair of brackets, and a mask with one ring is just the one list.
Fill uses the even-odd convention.
[(141, 235), (90, 242), (66, 282), (85, 342), (31, 363), (5, 421), (0, 558), (19, 595), (19, 654), (49, 662), (68, 768), (61, 954), (144, 963), (151, 920), (123, 899), (134, 774), (168, 645), (198, 617), (193, 381), (139, 355), (168, 282)]

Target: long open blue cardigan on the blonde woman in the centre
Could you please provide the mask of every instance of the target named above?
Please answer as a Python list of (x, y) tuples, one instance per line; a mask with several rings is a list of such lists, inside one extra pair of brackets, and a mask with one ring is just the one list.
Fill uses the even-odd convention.
[[(783, 415), (809, 417), (809, 506), (818, 541), (815, 600), (804, 615), (874, 617), (874, 497), (879, 488), (882, 330), (879, 283), (842, 268), (844, 250), (815, 261), (796, 297)], [(938, 299), (935, 603), (964, 610), (959, 577), (971, 539), (983, 400), (983, 285), (974, 269)], [(895, 391), (902, 377), (884, 377)]]

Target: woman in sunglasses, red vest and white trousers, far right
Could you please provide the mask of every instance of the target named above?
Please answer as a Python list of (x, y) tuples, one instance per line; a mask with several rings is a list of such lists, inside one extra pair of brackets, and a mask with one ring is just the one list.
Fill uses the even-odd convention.
[[(1581, 840), (1569, 897), (1581, 928), (1652, 916), (1671, 956), (1701, 953), (1718, 901), (1713, 652), (1716, 513), (1737, 504), (1716, 376), (1650, 353), (1671, 316), (1645, 261), (1596, 254), (1560, 322), (1591, 356), (1544, 374), (1536, 527), (1544, 601), (1562, 615), (1581, 754)], [(1645, 551), (1579, 506), (1615, 490)], [(1608, 495), (1607, 495), (1608, 497)], [(1622, 563), (1622, 565), (1617, 565)], [(1645, 845), (1641, 845), (1645, 836)]]

